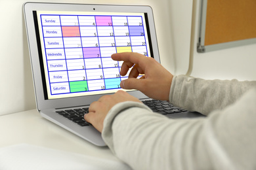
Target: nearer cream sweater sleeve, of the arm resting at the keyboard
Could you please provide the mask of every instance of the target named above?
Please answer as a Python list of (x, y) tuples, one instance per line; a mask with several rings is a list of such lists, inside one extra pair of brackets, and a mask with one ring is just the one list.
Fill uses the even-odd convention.
[(256, 169), (255, 103), (253, 88), (206, 118), (178, 120), (140, 103), (119, 103), (106, 116), (102, 137), (133, 169)]

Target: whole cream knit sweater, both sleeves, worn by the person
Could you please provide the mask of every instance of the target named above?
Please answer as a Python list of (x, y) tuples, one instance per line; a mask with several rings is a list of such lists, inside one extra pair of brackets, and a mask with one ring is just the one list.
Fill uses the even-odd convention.
[(256, 169), (256, 82), (174, 76), (169, 101), (207, 117), (173, 120), (119, 103), (102, 131), (117, 158), (133, 169)]

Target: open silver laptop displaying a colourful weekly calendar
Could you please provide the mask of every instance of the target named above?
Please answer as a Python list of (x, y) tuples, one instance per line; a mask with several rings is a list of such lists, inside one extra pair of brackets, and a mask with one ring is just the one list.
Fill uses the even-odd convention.
[[(106, 146), (83, 114), (102, 95), (120, 90), (129, 74), (119, 75), (122, 61), (112, 60), (112, 54), (138, 52), (160, 62), (152, 9), (62, 3), (25, 3), (23, 9), (37, 110), (75, 135)], [(197, 116), (137, 90), (126, 91), (170, 118)]]

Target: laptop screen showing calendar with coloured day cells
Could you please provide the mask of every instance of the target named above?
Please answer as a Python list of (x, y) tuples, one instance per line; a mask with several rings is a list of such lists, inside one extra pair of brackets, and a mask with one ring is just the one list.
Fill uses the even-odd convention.
[(146, 13), (33, 11), (45, 99), (114, 93), (122, 61), (111, 55), (153, 57)]

